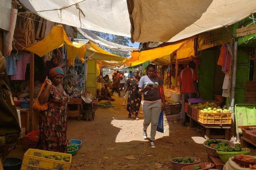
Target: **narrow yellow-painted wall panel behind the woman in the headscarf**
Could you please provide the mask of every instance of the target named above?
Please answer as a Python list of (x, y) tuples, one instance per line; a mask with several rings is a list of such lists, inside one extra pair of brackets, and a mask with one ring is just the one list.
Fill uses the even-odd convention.
[(95, 60), (87, 60), (87, 81), (86, 89), (90, 91), (93, 96), (97, 96), (97, 67)]

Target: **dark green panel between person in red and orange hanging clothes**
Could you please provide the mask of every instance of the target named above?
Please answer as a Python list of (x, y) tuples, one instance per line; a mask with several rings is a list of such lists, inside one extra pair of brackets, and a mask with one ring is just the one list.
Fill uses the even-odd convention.
[(198, 88), (200, 97), (204, 100), (213, 100), (213, 80), (215, 65), (215, 50), (202, 50), (200, 54)]

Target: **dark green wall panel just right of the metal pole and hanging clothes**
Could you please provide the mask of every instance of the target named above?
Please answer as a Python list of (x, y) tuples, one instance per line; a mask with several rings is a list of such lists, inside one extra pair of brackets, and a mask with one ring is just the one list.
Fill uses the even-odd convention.
[(245, 81), (249, 80), (249, 48), (238, 47), (235, 103), (244, 103)]

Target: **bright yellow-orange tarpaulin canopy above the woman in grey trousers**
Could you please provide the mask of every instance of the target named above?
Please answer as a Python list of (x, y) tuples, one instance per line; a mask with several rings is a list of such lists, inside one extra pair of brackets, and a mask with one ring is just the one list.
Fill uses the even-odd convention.
[[(191, 55), (195, 55), (194, 37), (164, 47), (143, 50), (142, 52), (132, 52), (132, 57), (129, 58), (129, 60), (127, 60), (125, 64), (127, 66), (138, 65), (146, 61), (155, 60), (156, 58), (170, 56), (170, 54), (172, 54), (176, 50), (178, 59), (187, 58)], [(166, 60), (167, 58), (164, 59)]]

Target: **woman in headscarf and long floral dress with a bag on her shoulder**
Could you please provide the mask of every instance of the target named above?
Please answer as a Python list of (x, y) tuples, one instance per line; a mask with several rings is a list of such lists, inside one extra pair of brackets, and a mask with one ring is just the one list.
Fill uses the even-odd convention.
[(39, 115), (39, 149), (67, 152), (67, 103), (68, 95), (62, 87), (64, 72), (54, 67), (46, 77), (46, 86), (38, 100), (47, 103), (47, 110)]

